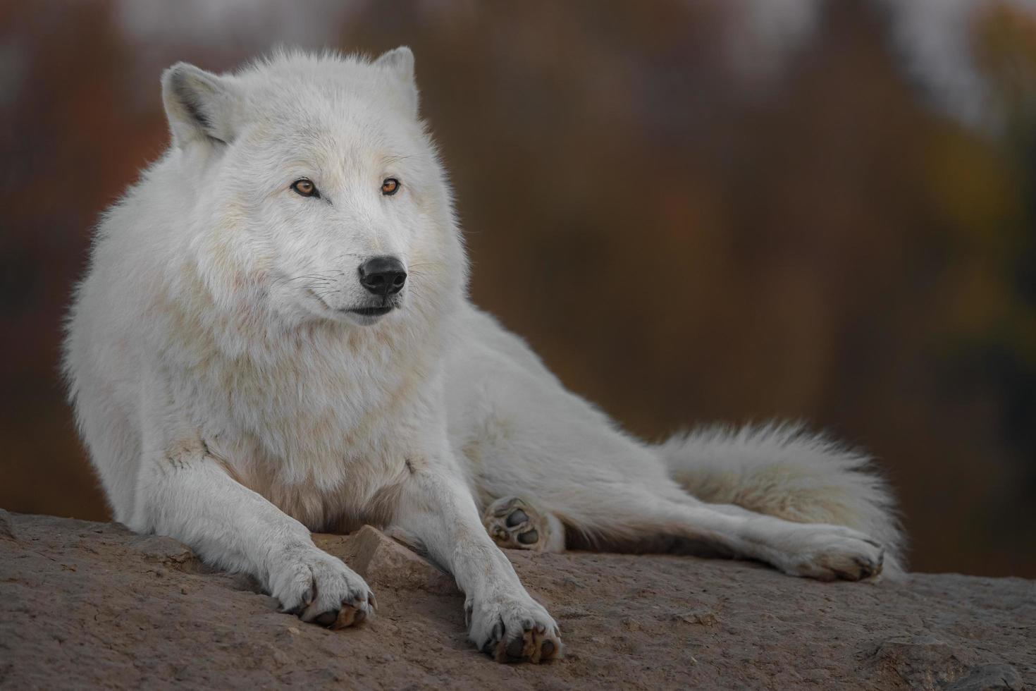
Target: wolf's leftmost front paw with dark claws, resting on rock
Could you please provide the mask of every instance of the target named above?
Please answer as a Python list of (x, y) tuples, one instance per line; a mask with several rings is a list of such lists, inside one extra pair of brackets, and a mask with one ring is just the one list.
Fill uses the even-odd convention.
[(332, 629), (361, 624), (376, 606), (357, 573), (316, 547), (282, 567), (270, 589), (281, 601), (281, 611)]

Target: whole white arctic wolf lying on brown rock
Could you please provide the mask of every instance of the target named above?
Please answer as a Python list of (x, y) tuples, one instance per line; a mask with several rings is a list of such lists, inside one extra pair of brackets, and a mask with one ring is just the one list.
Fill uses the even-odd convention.
[(64, 350), (117, 520), (334, 627), (374, 595), (310, 531), (391, 528), (498, 660), (562, 655), (499, 546), (898, 570), (865, 456), (781, 426), (644, 443), (468, 301), (408, 49), (180, 63), (162, 89), (171, 146), (105, 213)]

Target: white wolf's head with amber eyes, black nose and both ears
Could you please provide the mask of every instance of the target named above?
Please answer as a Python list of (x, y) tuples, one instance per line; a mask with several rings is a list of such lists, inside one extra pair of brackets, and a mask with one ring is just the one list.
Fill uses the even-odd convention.
[(217, 304), (371, 326), (463, 293), (409, 49), (282, 52), (222, 76), (179, 63), (162, 86), (183, 186), (170, 210)]

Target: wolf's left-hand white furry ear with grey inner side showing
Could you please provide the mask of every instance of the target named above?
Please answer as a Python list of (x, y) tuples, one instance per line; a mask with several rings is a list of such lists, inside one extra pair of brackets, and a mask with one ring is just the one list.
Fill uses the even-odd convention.
[(177, 62), (162, 75), (162, 99), (173, 133), (173, 143), (223, 142), (234, 139), (234, 85), (186, 62)]

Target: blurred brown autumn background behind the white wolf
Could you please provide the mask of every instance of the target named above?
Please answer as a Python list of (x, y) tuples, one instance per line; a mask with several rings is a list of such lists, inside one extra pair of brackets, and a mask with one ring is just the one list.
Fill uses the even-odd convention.
[(628, 429), (807, 420), (880, 459), (915, 569), (1036, 577), (1023, 0), (2, 2), (0, 507), (108, 517), (57, 375), (91, 227), (164, 67), (278, 44), (414, 50), (474, 300)]

